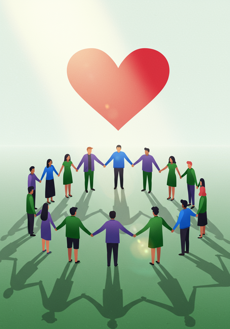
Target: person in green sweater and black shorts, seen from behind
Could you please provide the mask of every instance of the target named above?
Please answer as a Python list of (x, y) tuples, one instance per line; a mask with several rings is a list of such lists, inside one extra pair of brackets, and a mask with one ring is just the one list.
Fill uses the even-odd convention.
[(69, 212), (71, 216), (67, 216), (63, 222), (56, 227), (57, 231), (66, 225), (65, 227), (65, 236), (67, 240), (67, 248), (68, 248), (68, 257), (69, 257), (69, 263), (72, 262), (71, 255), (72, 255), (72, 245), (74, 245), (74, 258), (75, 258), (75, 264), (79, 263), (78, 261), (78, 249), (79, 249), (79, 239), (80, 239), (80, 230), (81, 229), (87, 233), (88, 235), (91, 235), (91, 233), (87, 230), (87, 228), (84, 227), (81, 220), (78, 217), (75, 217), (77, 207), (70, 208)]

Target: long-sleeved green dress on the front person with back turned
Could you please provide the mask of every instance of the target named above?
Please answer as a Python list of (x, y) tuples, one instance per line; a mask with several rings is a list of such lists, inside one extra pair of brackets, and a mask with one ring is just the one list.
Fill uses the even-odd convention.
[(162, 233), (162, 225), (164, 225), (168, 230), (172, 231), (172, 227), (170, 227), (166, 221), (162, 217), (152, 217), (149, 222), (143, 227), (142, 230), (136, 233), (139, 235), (150, 227), (150, 235), (149, 235), (149, 248), (159, 248), (163, 246), (163, 233)]

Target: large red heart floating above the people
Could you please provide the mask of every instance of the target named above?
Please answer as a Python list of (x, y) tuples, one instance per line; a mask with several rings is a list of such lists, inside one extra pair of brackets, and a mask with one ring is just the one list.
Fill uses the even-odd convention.
[(74, 90), (119, 130), (164, 88), (169, 63), (159, 51), (141, 48), (117, 67), (104, 51), (89, 48), (71, 57), (67, 75)]

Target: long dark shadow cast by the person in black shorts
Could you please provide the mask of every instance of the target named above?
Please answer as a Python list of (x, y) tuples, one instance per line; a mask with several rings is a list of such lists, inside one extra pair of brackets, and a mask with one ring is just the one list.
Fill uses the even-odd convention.
[(70, 263), (67, 263), (61, 274), (61, 277), (56, 280), (50, 297), (47, 296), (42, 281), (39, 281), (42, 304), (44, 308), (49, 311), (42, 315), (42, 320), (45, 320), (47, 323), (54, 323), (57, 321), (55, 312), (62, 312), (66, 310), (70, 305), (82, 298), (82, 296), (78, 296), (67, 301), (74, 283), (71, 279), (73, 278), (77, 264), (73, 265), (69, 274), (67, 275), (69, 267)]

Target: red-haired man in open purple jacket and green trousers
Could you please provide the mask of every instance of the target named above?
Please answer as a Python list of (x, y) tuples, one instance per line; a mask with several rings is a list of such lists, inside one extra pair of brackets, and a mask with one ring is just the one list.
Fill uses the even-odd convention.
[(87, 147), (87, 154), (83, 155), (80, 164), (78, 165), (76, 171), (81, 167), (84, 163), (84, 173), (85, 173), (85, 191), (88, 193), (88, 182), (90, 181), (90, 189), (95, 191), (93, 188), (93, 174), (94, 174), (94, 160), (99, 164), (103, 165), (105, 168), (105, 164), (103, 164), (94, 154), (91, 154), (92, 147)]

